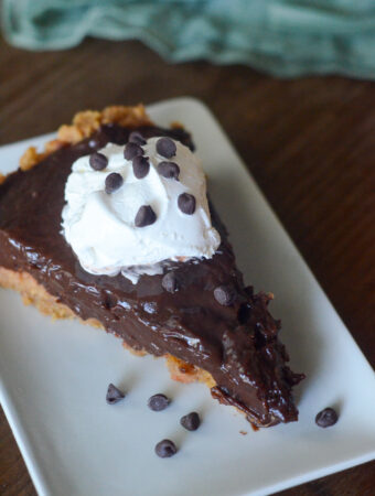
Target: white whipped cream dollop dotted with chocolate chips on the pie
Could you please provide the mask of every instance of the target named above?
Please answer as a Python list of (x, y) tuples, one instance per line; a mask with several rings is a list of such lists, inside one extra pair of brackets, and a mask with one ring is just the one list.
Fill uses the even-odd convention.
[(62, 213), (63, 235), (87, 272), (122, 272), (133, 283), (161, 273), (165, 260), (211, 258), (221, 242), (197, 158), (169, 138), (141, 143), (128, 152), (108, 143), (99, 157), (76, 160)]

